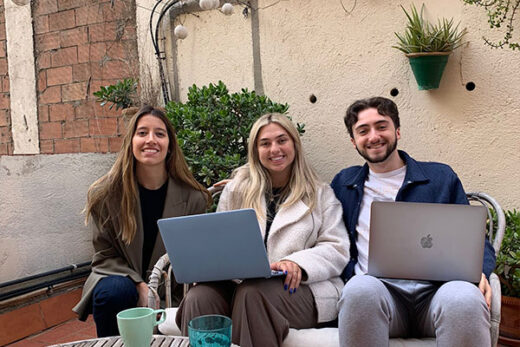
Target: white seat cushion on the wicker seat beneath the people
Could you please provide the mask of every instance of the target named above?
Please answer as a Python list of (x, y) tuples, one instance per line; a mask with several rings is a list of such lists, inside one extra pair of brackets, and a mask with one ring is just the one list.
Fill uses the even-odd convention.
[[(177, 307), (166, 309), (166, 320), (159, 324), (159, 331), (163, 335), (180, 336), (181, 330), (175, 323)], [(283, 341), (282, 347), (320, 346), (338, 347), (338, 328), (321, 329), (289, 329), (289, 334)], [(428, 339), (391, 339), (390, 347), (428, 347), (436, 346), (434, 338)]]

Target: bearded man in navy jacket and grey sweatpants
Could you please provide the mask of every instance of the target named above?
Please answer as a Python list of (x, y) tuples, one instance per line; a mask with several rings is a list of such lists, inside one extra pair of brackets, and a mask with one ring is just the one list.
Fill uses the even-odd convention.
[(345, 125), (364, 166), (342, 170), (332, 188), (343, 205), (351, 259), (339, 301), (340, 345), (388, 346), (390, 337), (436, 337), (437, 346), (491, 345), (488, 278), (495, 254), (486, 241), (479, 286), (464, 281), (382, 279), (366, 275), (370, 205), (374, 200), (468, 204), (462, 184), (444, 164), (418, 162), (397, 150), (401, 138), (395, 103), (358, 100)]

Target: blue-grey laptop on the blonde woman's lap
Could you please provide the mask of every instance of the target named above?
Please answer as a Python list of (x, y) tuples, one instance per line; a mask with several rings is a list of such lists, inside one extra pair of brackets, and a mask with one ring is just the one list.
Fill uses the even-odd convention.
[(253, 209), (157, 221), (179, 283), (269, 278), (271, 271)]

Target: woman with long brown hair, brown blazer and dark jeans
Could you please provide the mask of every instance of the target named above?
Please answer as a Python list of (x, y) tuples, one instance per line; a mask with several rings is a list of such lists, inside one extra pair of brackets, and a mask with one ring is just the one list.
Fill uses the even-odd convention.
[(74, 311), (81, 320), (92, 312), (98, 337), (119, 334), (119, 311), (146, 306), (145, 280), (166, 252), (157, 219), (203, 213), (209, 199), (164, 113), (141, 108), (128, 124), (114, 165), (88, 191), (94, 257)]

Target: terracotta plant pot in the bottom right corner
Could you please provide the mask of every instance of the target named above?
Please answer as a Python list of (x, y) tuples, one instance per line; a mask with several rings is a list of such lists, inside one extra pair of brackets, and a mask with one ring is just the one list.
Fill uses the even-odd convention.
[(520, 346), (520, 298), (502, 296), (500, 343)]

